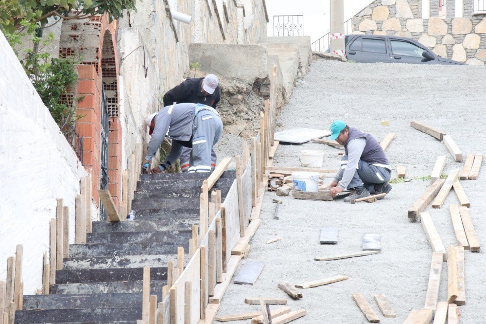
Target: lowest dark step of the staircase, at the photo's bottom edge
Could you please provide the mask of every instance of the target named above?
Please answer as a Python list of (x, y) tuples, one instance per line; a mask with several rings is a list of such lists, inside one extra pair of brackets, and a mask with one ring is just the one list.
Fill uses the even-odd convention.
[(141, 316), (141, 307), (17, 310), (15, 323), (137, 321)]

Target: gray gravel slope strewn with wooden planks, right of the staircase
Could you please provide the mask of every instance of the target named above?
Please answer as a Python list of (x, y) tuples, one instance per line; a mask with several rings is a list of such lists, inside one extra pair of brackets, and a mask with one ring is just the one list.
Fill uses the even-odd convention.
[[(436, 126), (451, 135), (464, 153), (485, 153), (486, 68), (476, 66), (426, 66), (405, 64), (358, 64), (323, 60), (312, 62), (311, 71), (298, 82), (290, 103), (278, 122), (282, 129), (311, 127), (327, 129), (343, 119), (371, 133), (379, 141), (388, 132), (396, 137), (386, 150), (394, 167), (403, 164), (407, 178), (430, 175), (439, 155), (447, 157), (444, 174), (463, 163), (454, 162), (447, 148), (435, 138), (410, 127), (411, 120)], [(389, 120), (390, 126), (381, 126)], [(239, 152), (240, 143), (221, 154)], [(338, 149), (321, 144), (280, 145), (274, 165), (300, 166), (302, 149), (324, 151), (324, 167), (337, 168)], [(470, 203), (470, 214), (480, 243), (486, 243), (485, 173), (478, 180), (461, 181)], [(331, 178), (326, 179), (330, 182)], [(420, 222), (411, 223), (407, 210), (429, 186), (429, 180), (412, 180), (393, 185), (391, 193), (376, 203), (355, 205), (337, 201), (283, 200), (280, 220), (272, 217), (274, 193), (265, 193), (262, 223), (251, 240), (246, 260), (265, 263), (254, 286), (231, 283), (222, 300), (219, 315), (257, 311), (244, 304), (245, 297), (288, 297), (277, 288), (280, 281), (292, 284), (334, 275), (349, 279), (317, 288), (302, 289), (302, 300), (290, 300), (292, 310), (304, 308), (307, 315), (293, 323), (367, 323), (351, 294), (360, 292), (375, 310), (381, 323), (402, 323), (412, 309), (425, 301), (432, 250)], [(451, 192), (441, 209), (431, 209), (432, 219), (446, 248), (455, 245), (449, 204), (458, 203)], [(338, 227), (336, 245), (320, 245), (322, 226)], [(361, 251), (363, 233), (382, 234), (380, 254), (336, 261), (318, 262), (317, 256)], [(265, 244), (276, 237), (281, 241)], [(484, 252), (465, 252), (466, 305), (459, 306), (461, 323), (486, 323), (486, 257)], [(240, 263), (236, 273), (245, 260)], [(384, 318), (374, 302), (384, 293), (397, 318)], [(446, 299), (447, 264), (442, 267), (439, 301)], [(278, 308), (273, 306), (272, 308)], [(247, 321), (227, 322), (246, 323)]]

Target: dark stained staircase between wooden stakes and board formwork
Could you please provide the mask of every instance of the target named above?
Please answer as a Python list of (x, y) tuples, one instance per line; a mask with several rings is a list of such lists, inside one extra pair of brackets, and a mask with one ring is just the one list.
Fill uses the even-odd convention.
[[(162, 299), (167, 261), (184, 247), (185, 264), (199, 195), (209, 173), (141, 175), (132, 202), (134, 221), (93, 222), (87, 244), (71, 244), (50, 295), (26, 295), (15, 323), (137, 323), (142, 318), (143, 267), (150, 293)], [(235, 180), (226, 171), (213, 190), (221, 199)]]

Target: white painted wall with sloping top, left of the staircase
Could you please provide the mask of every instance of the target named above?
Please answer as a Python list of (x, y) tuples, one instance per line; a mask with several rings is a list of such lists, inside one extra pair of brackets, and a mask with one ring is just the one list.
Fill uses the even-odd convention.
[(56, 198), (69, 206), (74, 242), (74, 198), (87, 173), (1, 32), (0, 57), (0, 280), (22, 244), (24, 293), (33, 294), (42, 287)]

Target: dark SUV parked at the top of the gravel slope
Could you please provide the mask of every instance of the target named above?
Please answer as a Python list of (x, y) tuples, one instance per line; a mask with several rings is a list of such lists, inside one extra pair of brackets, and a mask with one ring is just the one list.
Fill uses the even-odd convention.
[(398, 36), (347, 35), (346, 57), (360, 63), (464, 65), (440, 57), (419, 42)]

